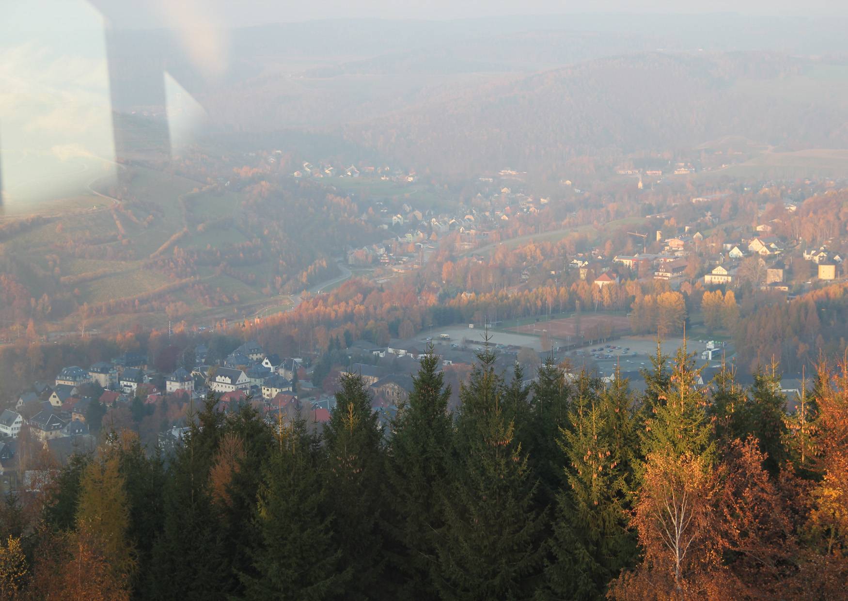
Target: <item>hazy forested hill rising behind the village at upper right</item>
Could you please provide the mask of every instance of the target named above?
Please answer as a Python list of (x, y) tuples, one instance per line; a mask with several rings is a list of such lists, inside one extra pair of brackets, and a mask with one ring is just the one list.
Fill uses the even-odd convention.
[[(845, 147), (848, 107), (817, 97), (808, 61), (772, 53), (641, 53), (600, 58), (348, 125), (349, 141), (407, 164), (474, 175), (563, 172), (569, 159), (695, 147), (746, 136), (785, 147)], [(773, 93), (799, 78), (806, 93)], [(812, 79), (811, 79), (812, 78)], [(841, 85), (841, 84), (840, 84)]]

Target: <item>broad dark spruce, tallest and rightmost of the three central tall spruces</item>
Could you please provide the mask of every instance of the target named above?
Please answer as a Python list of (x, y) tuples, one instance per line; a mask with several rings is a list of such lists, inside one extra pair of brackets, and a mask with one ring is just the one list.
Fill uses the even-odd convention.
[(438, 590), (445, 599), (527, 598), (540, 563), (536, 482), (501, 406), (494, 353), (460, 389), (452, 484), (442, 499)]

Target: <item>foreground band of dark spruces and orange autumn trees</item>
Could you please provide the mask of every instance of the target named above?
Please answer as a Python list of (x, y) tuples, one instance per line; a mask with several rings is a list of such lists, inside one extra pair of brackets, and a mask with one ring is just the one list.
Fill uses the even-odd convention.
[[(774, 368), (696, 387), (681, 348), (634, 395), (478, 355), (448, 413), (427, 355), (388, 430), (361, 376), (323, 429), (209, 397), (172, 452), (112, 431), (0, 509), (4, 598), (837, 599), (848, 365), (784, 414)], [(30, 444), (22, 432), (22, 448)], [(35, 447), (33, 447), (35, 448)], [(85, 574), (81, 578), (79, 575)]]

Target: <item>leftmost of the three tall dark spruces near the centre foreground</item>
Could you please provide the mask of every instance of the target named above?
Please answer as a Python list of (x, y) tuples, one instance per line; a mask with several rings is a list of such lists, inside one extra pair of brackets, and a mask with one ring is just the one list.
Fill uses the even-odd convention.
[(381, 522), (384, 456), (382, 427), (362, 377), (344, 374), (336, 407), (324, 427), (326, 508), (334, 544), (352, 569), (344, 598), (374, 598), (384, 567)]

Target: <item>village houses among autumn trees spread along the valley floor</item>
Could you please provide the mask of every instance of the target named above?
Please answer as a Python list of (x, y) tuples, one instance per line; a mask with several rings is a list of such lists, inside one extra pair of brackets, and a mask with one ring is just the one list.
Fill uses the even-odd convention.
[[(261, 159), (262, 153), (250, 156), (267, 164), (276, 161), (274, 153), (267, 159)], [(347, 276), (335, 278), (332, 287), (319, 284), (315, 294), (343, 286), (346, 278), (359, 278), (383, 288), (417, 281), (422, 290), (460, 303), (486, 294), (510, 298), (540, 287), (568, 287), (583, 295), (582, 303), (568, 301), (566, 309), (559, 298), (554, 300), (559, 306), (552, 307), (548, 298), (547, 306), (522, 309), (509, 319), (499, 318), (498, 303), (491, 303), (468, 322), (443, 321), (437, 329), (422, 323), (416, 331), (395, 322), (388, 339), (354, 339), (346, 333), (343, 339), (331, 339), (335, 348), (313, 339), (297, 357), (282, 357), (254, 340), (212, 357), (204, 341), (219, 333), (215, 327), (183, 322), (181, 328), (201, 342), (176, 349), (174, 370), (158, 370), (146, 353), (129, 351), (86, 366), (67, 365), (54, 380), (31, 381), (21, 389), (0, 416), (0, 459), (7, 481), (26, 470), (18, 449), (21, 439), (42, 444), (64, 460), (93, 448), (99, 431), (116, 427), (116, 417), (119, 426), (136, 427), (148, 418), (143, 421), (146, 440), (173, 445), (187, 431), (192, 407), (208, 393), (218, 395), (218, 407), (225, 412), (248, 403), (269, 423), (305, 416), (310, 425), (319, 425), (330, 417), (334, 382), (344, 372), (363, 377), (373, 408), (388, 427), (412, 389), (418, 361), (431, 346), (455, 382), (454, 397), (484, 344), (499, 354), (499, 369), (523, 364), (527, 384), (538, 364), (552, 359), (575, 372), (589, 366), (606, 381), (626, 377), (639, 388), (657, 332), (667, 339), (664, 347), (670, 352), (682, 343), (683, 320), (689, 320), (689, 349), (705, 369), (701, 385), (709, 383), (721, 362), (733, 360), (732, 326), (722, 323), (729, 319), (726, 315), (706, 317), (691, 302), (695, 292), (700, 299), (718, 291), (720, 302), (734, 305), (735, 320), (739, 309), (734, 291), (743, 298), (766, 293), (789, 300), (840, 281), (844, 242), (819, 236), (805, 241), (808, 231), (799, 224), (799, 212), (812, 219), (811, 210), (804, 209), (806, 198), (815, 205), (819, 195), (827, 198), (839, 186), (806, 180), (762, 182), (757, 188), (724, 186), (722, 191), (704, 185), (711, 193), (693, 197), (680, 192), (680, 181), (686, 178), (691, 186), (695, 167), (670, 169), (667, 179), (661, 170), (617, 170), (612, 183), (589, 192), (563, 180), (558, 190), (544, 196), (530, 192), (526, 174), (500, 170), (478, 177), (472, 185), (476, 192), (466, 192), (465, 202), (440, 210), (444, 203), (416, 199), (438, 186), (422, 186), (415, 172), (371, 166), (337, 170), (304, 162), (289, 177), (348, 196), (359, 204), (361, 220), (379, 240), (339, 248), (337, 259)], [(390, 194), (375, 193), (386, 186), (392, 186)], [(411, 192), (419, 193), (410, 193), (407, 186), (416, 186)], [(609, 210), (611, 190), (625, 195), (617, 213)], [(740, 208), (743, 203), (747, 214)], [(650, 213), (634, 214), (645, 208)], [(484, 276), (458, 275), (463, 265), (483, 270)], [(648, 309), (639, 299), (644, 292), (656, 292), (657, 299), (661, 292), (678, 294), (683, 313), (662, 317), (657, 309), (660, 313), (645, 317)], [(252, 326), (260, 329), (264, 318), (257, 315)], [(799, 387), (796, 375), (789, 374), (784, 390)]]

